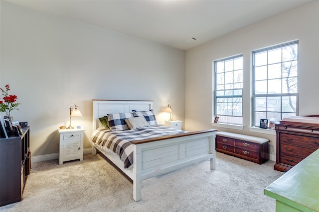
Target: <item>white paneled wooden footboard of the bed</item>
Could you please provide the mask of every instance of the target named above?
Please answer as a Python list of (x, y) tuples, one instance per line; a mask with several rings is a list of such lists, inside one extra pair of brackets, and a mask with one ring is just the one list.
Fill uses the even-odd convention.
[(141, 181), (210, 159), (215, 169), (215, 131), (134, 144), (133, 199), (141, 200)]

